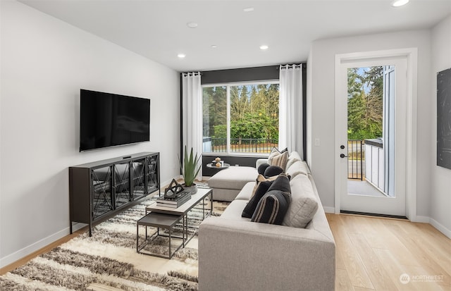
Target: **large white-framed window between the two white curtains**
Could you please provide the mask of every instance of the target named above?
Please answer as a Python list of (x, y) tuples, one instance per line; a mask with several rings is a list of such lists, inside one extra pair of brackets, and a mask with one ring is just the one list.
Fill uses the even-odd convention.
[(205, 85), (204, 153), (268, 153), (278, 147), (279, 84)]

